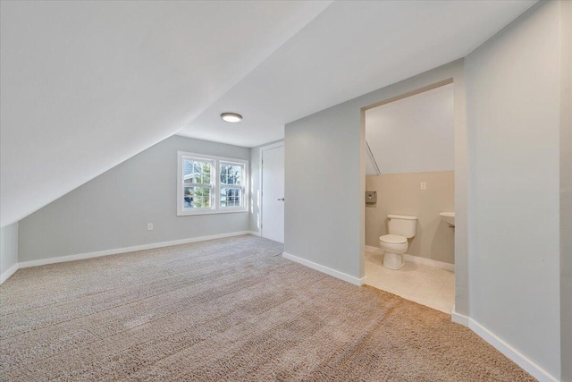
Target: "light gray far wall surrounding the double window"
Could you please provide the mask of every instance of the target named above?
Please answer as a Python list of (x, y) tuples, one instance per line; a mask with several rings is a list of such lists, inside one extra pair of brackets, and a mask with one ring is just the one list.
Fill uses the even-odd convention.
[(20, 261), (248, 231), (248, 212), (177, 216), (178, 150), (250, 159), (250, 149), (172, 136), (22, 219)]

